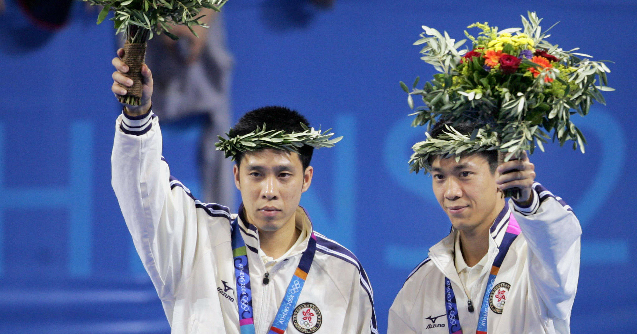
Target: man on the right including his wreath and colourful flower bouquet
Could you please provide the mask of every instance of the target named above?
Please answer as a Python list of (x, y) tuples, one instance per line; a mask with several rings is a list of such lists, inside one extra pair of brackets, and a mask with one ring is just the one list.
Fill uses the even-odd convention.
[(431, 174), (452, 229), (404, 282), (389, 334), (570, 333), (582, 228), (528, 155), (551, 137), (583, 153), (570, 116), (612, 88), (603, 62), (552, 45), (540, 22), (533, 12), (523, 28), (476, 22), (466, 50), (423, 26), (415, 44), (440, 73), (412, 92), (402, 83), (412, 108), (413, 95), (424, 103), (412, 125), (431, 130), (410, 164)]

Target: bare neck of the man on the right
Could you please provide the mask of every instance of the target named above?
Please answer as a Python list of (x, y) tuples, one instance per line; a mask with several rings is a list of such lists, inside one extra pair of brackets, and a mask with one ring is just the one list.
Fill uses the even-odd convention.
[(458, 232), (460, 233), (462, 258), (469, 267), (478, 264), (489, 251), (489, 230), (504, 207), (504, 202), (502, 205), (497, 205), (494, 212), (483, 223), (470, 229), (464, 228)]

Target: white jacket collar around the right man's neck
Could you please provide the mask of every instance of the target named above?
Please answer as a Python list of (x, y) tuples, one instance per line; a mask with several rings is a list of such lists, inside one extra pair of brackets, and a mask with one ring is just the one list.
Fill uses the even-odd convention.
[[(509, 204), (505, 201), (505, 207), (503, 207), (503, 209), (499, 212), (489, 228), (489, 251), (487, 251), (487, 263), (492, 263), (493, 258), (497, 253), (497, 247), (500, 246), (500, 243), (505, 236), (510, 215), (511, 209)], [(431, 258), (443, 274), (449, 277), (449, 279), (452, 279), (452, 281), (454, 277), (458, 276), (455, 270), (454, 260), (455, 236), (457, 233), (458, 230), (452, 227), (451, 232), (447, 235), (447, 237), (429, 248), (429, 258)]]

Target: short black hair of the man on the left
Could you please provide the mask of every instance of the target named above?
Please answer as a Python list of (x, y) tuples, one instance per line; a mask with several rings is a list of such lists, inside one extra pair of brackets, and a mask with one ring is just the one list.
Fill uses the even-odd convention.
[[(262, 127), (264, 124), (266, 125), (266, 130), (283, 130), (288, 133), (303, 132), (304, 129), (301, 127), (301, 123), (308, 128), (311, 127), (310, 122), (296, 110), (280, 106), (267, 106), (254, 109), (241, 116), (228, 135), (230, 138), (243, 136), (253, 132), (257, 127)], [(309, 145), (303, 145), (297, 150), (299, 151), (301, 165), (303, 165), (303, 170), (305, 170), (310, 165), (314, 148)], [(234, 155), (237, 167), (241, 165), (241, 158), (243, 158), (243, 152)]]

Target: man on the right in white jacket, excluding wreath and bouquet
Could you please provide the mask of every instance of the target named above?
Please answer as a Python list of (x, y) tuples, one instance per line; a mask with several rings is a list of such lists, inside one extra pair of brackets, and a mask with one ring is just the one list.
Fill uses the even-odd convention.
[[(431, 138), (445, 137), (445, 125)], [(476, 127), (454, 129), (468, 137)], [(388, 334), (569, 333), (582, 229), (571, 207), (534, 181), (526, 153), (503, 164), (497, 151), (459, 160), (433, 153), (424, 163), (452, 230), (404, 282)], [(511, 188), (520, 196), (507, 201)]]

